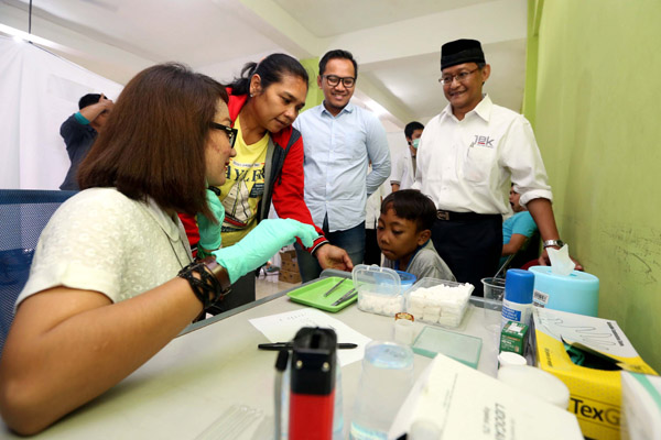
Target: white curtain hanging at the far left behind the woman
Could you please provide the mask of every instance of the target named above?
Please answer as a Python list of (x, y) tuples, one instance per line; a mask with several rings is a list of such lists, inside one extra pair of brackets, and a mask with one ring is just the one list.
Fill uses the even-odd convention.
[(59, 125), (86, 94), (122, 86), (57, 55), (0, 36), (0, 188), (57, 189), (69, 167)]

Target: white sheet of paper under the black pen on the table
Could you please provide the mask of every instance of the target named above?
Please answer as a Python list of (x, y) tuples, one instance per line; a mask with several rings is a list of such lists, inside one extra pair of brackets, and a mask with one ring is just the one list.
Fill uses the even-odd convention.
[(337, 334), (337, 342), (358, 344), (356, 349), (337, 350), (337, 360), (340, 366), (360, 361), (365, 355), (365, 345), (371, 341), (371, 339), (351, 329), (340, 320), (313, 308), (254, 318), (250, 320), (250, 323), (271, 342), (292, 341), (296, 332), (303, 327), (330, 328)]

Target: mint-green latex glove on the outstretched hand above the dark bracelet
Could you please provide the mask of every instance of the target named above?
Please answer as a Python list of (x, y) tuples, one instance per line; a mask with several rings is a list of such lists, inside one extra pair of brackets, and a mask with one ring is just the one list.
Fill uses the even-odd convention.
[(243, 240), (234, 246), (212, 252), (216, 261), (227, 270), (234, 284), (250, 271), (261, 267), (281, 248), (301, 239), (305, 248), (319, 237), (314, 227), (293, 219), (262, 220)]

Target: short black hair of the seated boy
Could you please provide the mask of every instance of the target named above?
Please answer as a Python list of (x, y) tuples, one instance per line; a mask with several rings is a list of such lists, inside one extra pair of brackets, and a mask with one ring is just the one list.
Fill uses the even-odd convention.
[(416, 223), (418, 232), (432, 229), (436, 220), (436, 206), (416, 189), (402, 189), (391, 193), (381, 204), (381, 213), (394, 210), (394, 215)]

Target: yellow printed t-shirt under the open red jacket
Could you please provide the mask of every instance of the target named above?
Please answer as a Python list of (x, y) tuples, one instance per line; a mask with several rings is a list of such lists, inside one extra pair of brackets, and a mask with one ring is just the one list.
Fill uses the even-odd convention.
[(239, 131), (235, 143), (237, 155), (229, 160), (227, 179), (218, 188), (218, 197), (225, 206), (224, 248), (231, 246), (257, 226), (257, 210), (264, 194), (264, 162), (269, 146), (268, 132), (248, 145), (243, 141), (239, 118), (235, 128)]

